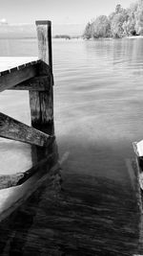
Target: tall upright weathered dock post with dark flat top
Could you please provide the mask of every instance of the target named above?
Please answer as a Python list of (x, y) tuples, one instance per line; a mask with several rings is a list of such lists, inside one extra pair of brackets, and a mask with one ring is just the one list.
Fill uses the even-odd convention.
[(51, 21), (36, 21), (38, 38), (39, 76), (51, 76), (45, 91), (30, 91), (31, 125), (50, 135), (53, 128), (53, 79), (51, 54)]

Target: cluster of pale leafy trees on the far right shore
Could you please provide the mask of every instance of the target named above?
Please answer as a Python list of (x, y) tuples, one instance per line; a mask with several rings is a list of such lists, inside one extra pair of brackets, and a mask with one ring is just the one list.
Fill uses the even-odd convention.
[(84, 31), (84, 38), (143, 35), (143, 0), (133, 3), (128, 9), (120, 4), (109, 16), (100, 15), (89, 22)]

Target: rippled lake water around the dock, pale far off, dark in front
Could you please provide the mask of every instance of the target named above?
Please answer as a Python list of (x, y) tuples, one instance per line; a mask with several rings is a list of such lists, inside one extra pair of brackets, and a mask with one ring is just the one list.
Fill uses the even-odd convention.
[[(36, 40), (0, 40), (0, 49), (0, 56), (37, 55)], [(44, 225), (53, 232), (47, 230), (52, 240), (46, 240), (52, 253), (55, 243), (67, 254), (51, 255), (133, 255), (142, 237), (132, 143), (143, 138), (143, 38), (55, 40), (52, 51), (54, 123), (65, 194), (58, 210), (51, 206), (52, 224), (47, 219)], [(26, 93), (2, 93), (0, 108), (30, 123)], [(11, 143), (8, 147), (5, 142), (0, 150), (3, 155), (9, 152), (9, 172), (31, 166), (28, 146)], [(19, 154), (14, 160), (11, 150)], [(8, 172), (6, 158), (1, 157), (2, 169)], [(39, 207), (45, 205), (44, 195)], [(48, 218), (49, 208), (40, 209)], [(38, 222), (38, 218), (37, 214), (34, 219)], [(66, 218), (71, 218), (67, 219), (71, 225)], [(23, 244), (25, 249), (30, 245)]]

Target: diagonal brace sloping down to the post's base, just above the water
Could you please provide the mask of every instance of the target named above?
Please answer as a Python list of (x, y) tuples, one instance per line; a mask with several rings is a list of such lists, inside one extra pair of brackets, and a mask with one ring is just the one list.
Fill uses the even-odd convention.
[(8, 115), (0, 112), (0, 137), (29, 143), (39, 147), (47, 147), (53, 136), (31, 128)]

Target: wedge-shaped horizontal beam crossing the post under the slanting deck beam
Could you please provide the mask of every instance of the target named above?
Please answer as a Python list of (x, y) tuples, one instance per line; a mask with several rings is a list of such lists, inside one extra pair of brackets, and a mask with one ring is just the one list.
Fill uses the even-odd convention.
[(52, 84), (51, 76), (34, 77), (28, 81), (18, 83), (9, 88), (10, 90), (31, 90), (31, 91), (49, 91)]

